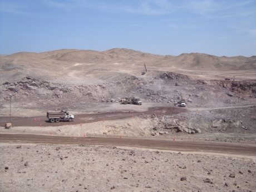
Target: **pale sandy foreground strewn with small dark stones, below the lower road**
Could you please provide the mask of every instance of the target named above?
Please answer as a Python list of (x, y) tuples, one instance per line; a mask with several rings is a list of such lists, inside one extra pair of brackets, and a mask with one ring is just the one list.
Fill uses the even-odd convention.
[[(255, 191), (249, 157), (1, 144), (1, 191)], [(184, 179), (184, 180), (183, 180)]]

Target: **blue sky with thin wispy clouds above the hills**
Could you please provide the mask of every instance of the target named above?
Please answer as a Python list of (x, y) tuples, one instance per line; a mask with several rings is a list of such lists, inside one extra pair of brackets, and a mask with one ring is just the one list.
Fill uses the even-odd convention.
[(128, 48), (256, 55), (256, 0), (0, 0), (0, 55)]

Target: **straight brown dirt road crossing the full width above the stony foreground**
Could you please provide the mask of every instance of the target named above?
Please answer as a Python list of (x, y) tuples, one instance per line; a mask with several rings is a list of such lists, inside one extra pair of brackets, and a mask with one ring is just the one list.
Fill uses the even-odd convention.
[(141, 147), (155, 150), (214, 152), (221, 154), (256, 156), (256, 146), (216, 143), (209, 141), (173, 141), (147, 139), (119, 139), (106, 137), (62, 137), (46, 135), (0, 134), (0, 142), (19, 144), (85, 144)]

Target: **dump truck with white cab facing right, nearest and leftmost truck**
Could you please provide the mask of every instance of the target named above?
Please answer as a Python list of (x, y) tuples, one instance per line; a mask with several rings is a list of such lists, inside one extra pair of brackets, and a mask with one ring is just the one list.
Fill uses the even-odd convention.
[(50, 122), (60, 122), (60, 120), (71, 122), (75, 119), (74, 115), (63, 110), (61, 112), (47, 112), (46, 116)]

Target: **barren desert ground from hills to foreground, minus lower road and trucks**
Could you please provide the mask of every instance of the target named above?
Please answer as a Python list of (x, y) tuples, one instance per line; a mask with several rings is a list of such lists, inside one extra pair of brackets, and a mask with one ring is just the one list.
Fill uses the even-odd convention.
[[(0, 56), (0, 74), (0, 134), (256, 146), (256, 56), (19, 52)], [(61, 110), (74, 121), (51, 124)], [(256, 191), (255, 155), (17, 142), (1, 141), (2, 191)]]

